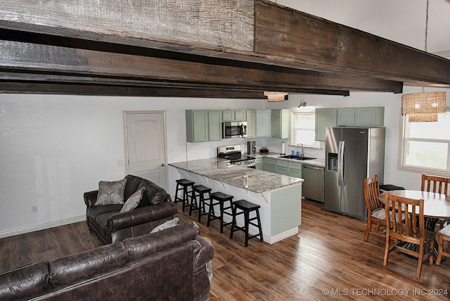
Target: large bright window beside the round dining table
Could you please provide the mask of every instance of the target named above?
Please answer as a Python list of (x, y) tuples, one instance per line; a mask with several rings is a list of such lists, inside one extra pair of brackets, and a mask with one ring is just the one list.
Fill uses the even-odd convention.
[(401, 167), (417, 172), (450, 172), (450, 112), (439, 113), (437, 122), (409, 122), (403, 117)]

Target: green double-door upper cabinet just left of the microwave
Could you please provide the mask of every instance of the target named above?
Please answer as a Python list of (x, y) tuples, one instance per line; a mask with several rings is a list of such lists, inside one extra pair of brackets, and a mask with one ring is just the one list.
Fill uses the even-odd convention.
[(221, 140), (221, 111), (186, 110), (186, 141)]

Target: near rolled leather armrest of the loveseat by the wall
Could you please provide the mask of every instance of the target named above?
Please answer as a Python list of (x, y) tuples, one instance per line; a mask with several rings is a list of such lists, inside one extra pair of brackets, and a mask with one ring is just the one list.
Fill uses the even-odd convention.
[(160, 203), (146, 207), (136, 208), (128, 212), (117, 212), (110, 215), (108, 219), (108, 235), (119, 229), (129, 228), (165, 217), (172, 216), (178, 212), (175, 203)]

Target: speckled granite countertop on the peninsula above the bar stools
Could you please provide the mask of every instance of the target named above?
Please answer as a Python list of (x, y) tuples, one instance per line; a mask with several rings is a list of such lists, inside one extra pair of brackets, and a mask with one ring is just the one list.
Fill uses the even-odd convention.
[(232, 165), (229, 160), (208, 158), (169, 163), (170, 166), (255, 193), (302, 184), (303, 179)]

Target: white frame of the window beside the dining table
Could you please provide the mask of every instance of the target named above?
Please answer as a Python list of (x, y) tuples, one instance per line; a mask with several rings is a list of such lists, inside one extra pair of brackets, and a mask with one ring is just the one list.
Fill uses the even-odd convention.
[[(446, 108), (446, 113), (450, 113), (450, 108)], [(450, 177), (450, 139), (435, 138), (409, 138), (406, 137), (407, 115), (401, 116), (400, 135), (399, 135), (399, 160), (398, 169), (406, 172), (417, 172), (420, 174), (435, 174), (437, 176)], [(447, 143), (447, 166), (446, 169), (437, 169), (432, 167), (420, 167), (417, 165), (406, 165), (406, 145), (409, 141), (420, 141), (424, 143)]]

